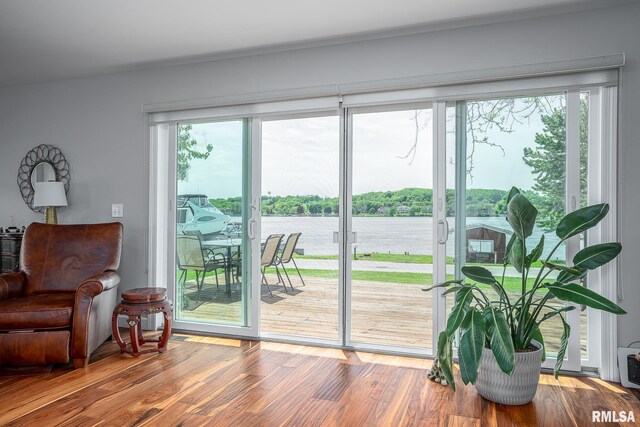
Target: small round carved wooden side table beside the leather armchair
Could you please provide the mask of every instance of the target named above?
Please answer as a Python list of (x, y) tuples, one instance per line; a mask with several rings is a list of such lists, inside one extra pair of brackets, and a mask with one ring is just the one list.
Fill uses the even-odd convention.
[[(158, 313), (163, 313), (164, 315), (162, 336), (157, 339), (145, 340), (142, 336), (140, 316)], [(129, 344), (125, 343), (120, 336), (120, 331), (118, 330), (119, 315), (127, 316), (129, 335), (131, 337)], [(172, 318), (173, 304), (167, 298), (167, 290), (165, 288), (136, 288), (123, 292), (122, 301), (113, 310), (111, 318), (113, 337), (118, 346), (120, 346), (120, 352), (134, 357), (146, 353), (164, 353), (167, 350), (169, 335), (171, 335)], [(141, 349), (141, 346), (146, 343), (157, 343), (157, 346)]]

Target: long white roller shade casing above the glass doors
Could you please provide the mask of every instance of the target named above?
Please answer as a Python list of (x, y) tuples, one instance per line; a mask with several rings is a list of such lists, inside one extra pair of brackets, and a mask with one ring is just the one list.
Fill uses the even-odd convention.
[(343, 107), (477, 99), (616, 86), (624, 54), (524, 64), (443, 74), (145, 104), (150, 124), (288, 113)]

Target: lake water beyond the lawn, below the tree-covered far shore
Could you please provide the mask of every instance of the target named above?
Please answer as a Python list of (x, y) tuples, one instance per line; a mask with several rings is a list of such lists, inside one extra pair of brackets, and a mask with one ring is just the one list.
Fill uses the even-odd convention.
[[(449, 218), (449, 226), (453, 228), (454, 218)], [(490, 225), (511, 230), (511, 226), (503, 217), (469, 217), (467, 224)], [(431, 217), (354, 217), (353, 230), (358, 233), (359, 253), (405, 253), (425, 255), (433, 253), (433, 222)], [(300, 232), (298, 247), (304, 249), (306, 255), (336, 255), (338, 245), (333, 243), (333, 232), (338, 231), (337, 217), (262, 217), (262, 239), (269, 234)], [(543, 230), (536, 227), (533, 235), (527, 239), (527, 247), (533, 249), (540, 240)], [(546, 256), (558, 242), (555, 233), (545, 234)], [(286, 236), (285, 236), (286, 238)], [(447, 255), (454, 255), (454, 235), (449, 234)], [(558, 250), (554, 258), (564, 259), (564, 251)]]

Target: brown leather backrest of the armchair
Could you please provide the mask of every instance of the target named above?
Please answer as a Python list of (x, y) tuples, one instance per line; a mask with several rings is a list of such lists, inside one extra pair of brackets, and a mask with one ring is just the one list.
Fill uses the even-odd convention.
[(116, 271), (122, 252), (122, 224), (31, 224), (24, 233), (20, 269), (25, 294), (75, 292), (82, 282)]

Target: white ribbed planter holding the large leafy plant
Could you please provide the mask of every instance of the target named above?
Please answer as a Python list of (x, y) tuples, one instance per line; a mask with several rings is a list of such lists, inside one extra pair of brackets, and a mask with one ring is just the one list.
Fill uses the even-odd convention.
[(524, 405), (531, 402), (538, 389), (542, 366), (542, 345), (532, 341), (536, 351), (516, 353), (516, 367), (507, 375), (498, 366), (490, 349), (485, 348), (480, 360), (476, 390), (487, 400), (504, 405)]

